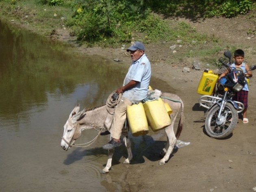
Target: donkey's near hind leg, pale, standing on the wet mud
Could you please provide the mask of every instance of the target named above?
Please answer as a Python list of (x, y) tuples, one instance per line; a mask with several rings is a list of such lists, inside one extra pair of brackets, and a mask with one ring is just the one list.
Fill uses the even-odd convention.
[[(168, 138), (167, 139), (168, 144), (166, 144), (165, 147), (167, 147), (168, 145), (169, 145), (169, 147), (168, 147), (163, 159), (161, 159), (159, 161), (159, 165), (164, 165), (165, 162), (167, 160), (169, 160), (171, 152), (174, 149), (174, 145), (176, 144), (177, 139), (176, 139), (176, 136), (174, 134), (174, 121), (171, 123), (171, 125), (169, 125), (168, 127), (165, 128), (165, 132), (166, 132), (167, 138)], [(166, 149), (164, 148), (163, 150), (166, 150)]]

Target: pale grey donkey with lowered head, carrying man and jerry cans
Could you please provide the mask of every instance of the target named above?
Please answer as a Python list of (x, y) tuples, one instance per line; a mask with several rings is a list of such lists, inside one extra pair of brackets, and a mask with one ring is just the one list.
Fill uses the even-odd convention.
[[(160, 155), (163, 158), (159, 161), (159, 165), (165, 164), (167, 160), (169, 160), (169, 156), (174, 149), (174, 145), (176, 144), (177, 138), (180, 136), (183, 128), (184, 122), (184, 104), (178, 95), (174, 95), (172, 93), (163, 93), (162, 99), (165, 103), (168, 103), (172, 109), (171, 117), (171, 125), (165, 127), (165, 132), (167, 135), (167, 142), (161, 151)], [(181, 110), (180, 110), (181, 109)], [(108, 120), (108, 111), (106, 105), (95, 108), (93, 110), (82, 110), (80, 111), (80, 105), (78, 104), (74, 110), (69, 115), (69, 119), (64, 125), (64, 133), (61, 140), (61, 147), (65, 151), (70, 149), (74, 142), (81, 136), (81, 132), (84, 129), (92, 129), (92, 128), (103, 128), (104, 123)], [(176, 134), (174, 134), (174, 122), (180, 111), (180, 120), (178, 123), (178, 128)], [(106, 124), (106, 123), (105, 123)], [(131, 144), (128, 138), (128, 133), (122, 132), (120, 138), (128, 151), (128, 157), (124, 160), (124, 164), (130, 164), (132, 160), (132, 151)], [(108, 173), (111, 168), (112, 157), (114, 154), (114, 149), (108, 150), (108, 161), (106, 167), (102, 170), (103, 173)]]

